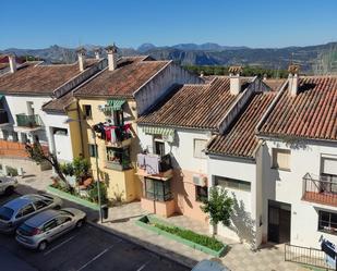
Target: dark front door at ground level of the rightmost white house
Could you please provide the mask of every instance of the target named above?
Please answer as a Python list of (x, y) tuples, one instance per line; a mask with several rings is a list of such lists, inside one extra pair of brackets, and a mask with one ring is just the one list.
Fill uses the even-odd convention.
[(268, 242), (282, 244), (290, 242), (291, 205), (268, 202)]

